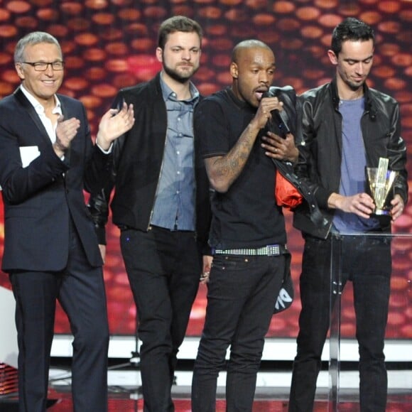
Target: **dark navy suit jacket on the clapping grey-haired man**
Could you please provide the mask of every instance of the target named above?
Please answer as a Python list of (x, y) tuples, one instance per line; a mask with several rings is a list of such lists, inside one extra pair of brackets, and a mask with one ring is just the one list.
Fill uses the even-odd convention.
[[(70, 216), (87, 259), (102, 265), (83, 189), (99, 190), (107, 158), (92, 144), (81, 102), (58, 95), (65, 119), (80, 119), (64, 161), (20, 89), (0, 101), (0, 185), (4, 201), (3, 271), (60, 271), (67, 264)], [(39, 156), (22, 167), (21, 147)], [(23, 149), (24, 150), (24, 149)], [(30, 151), (30, 148), (26, 148)]]

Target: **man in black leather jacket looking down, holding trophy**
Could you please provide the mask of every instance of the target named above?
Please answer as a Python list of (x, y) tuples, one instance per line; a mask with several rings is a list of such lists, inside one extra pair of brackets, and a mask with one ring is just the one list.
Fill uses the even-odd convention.
[[(330, 324), (330, 251), (334, 233), (391, 232), (408, 198), (406, 146), (399, 104), (369, 88), (374, 32), (347, 18), (332, 33), (327, 55), (335, 78), (300, 96), (303, 143), (296, 173), (311, 185), (327, 224), (316, 226), (307, 205), (294, 226), (303, 232), (298, 353), (289, 411), (313, 411), (322, 348)], [(391, 246), (385, 236), (342, 238), (342, 288), (352, 281), (359, 343), (361, 411), (384, 412), (384, 335), (389, 308)]]

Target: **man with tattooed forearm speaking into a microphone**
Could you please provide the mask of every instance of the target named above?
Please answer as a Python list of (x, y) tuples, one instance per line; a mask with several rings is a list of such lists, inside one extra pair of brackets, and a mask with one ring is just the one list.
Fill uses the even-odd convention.
[[(296, 161), (298, 151), (293, 134), (282, 139), (264, 131), (271, 111), (283, 109), (281, 97), (262, 98), (274, 71), (275, 57), (265, 43), (242, 41), (232, 54), (232, 87), (202, 100), (195, 112), (195, 133), (214, 190), (209, 237), (214, 256), (193, 373), (194, 412), (215, 411), (217, 376), (229, 345), (227, 410), (251, 411), (264, 336), (288, 266), (271, 158)], [(295, 133), (296, 112), (288, 118)]]

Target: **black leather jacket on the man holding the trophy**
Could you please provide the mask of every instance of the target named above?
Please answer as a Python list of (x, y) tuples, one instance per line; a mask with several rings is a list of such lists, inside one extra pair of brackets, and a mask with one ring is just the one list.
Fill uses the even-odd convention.
[[(389, 158), (389, 170), (399, 171), (394, 193), (408, 200), (406, 145), (401, 138), (399, 104), (395, 99), (364, 85), (365, 110), (361, 119), (367, 166), (377, 167), (379, 158)], [(315, 225), (308, 205), (300, 205), (293, 215), (293, 226), (325, 239), (335, 210), (327, 207), (332, 193), (339, 193), (342, 160), (342, 116), (338, 111), (336, 81), (309, 90), (298, 97), (302, 107), (303, 140), (298, 146), (296, 173), (308, 182), (327, 224)], [(381, 230), (390, 232), (390, 218), (381, 220)]]

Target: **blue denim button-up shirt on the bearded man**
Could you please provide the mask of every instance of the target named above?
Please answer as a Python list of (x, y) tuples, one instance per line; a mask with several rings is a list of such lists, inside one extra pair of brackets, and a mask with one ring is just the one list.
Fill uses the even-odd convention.
[(190, 83), (188, 100), (178, 100), (161, 79), (168, 112), (163, 166), (151, 224), (170, 230), (195, 230), (195, 158), (193, 109), (199, 92)]

